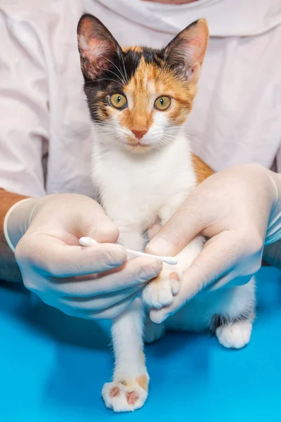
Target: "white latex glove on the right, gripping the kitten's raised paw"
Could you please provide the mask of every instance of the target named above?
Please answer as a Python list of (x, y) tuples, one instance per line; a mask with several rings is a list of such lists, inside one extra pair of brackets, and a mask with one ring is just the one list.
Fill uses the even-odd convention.
[(200, 232), (209, 240), (185, 271), (171, 306), (152, 310), (162, 322), (204, 288), (247, 283), (261, 267), (263, 244), (281, 238), (280, 175), (242, 165), (202, 182), (148, 243), (146, 252), (175, 255)]

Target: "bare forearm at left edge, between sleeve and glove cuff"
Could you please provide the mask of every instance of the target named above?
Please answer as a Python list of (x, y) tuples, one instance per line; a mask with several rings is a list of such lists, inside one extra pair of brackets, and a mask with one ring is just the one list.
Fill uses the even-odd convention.
[(8, 210), (25, 196), (4, 191), (0, 188), (0, 279), (21, 281), (20, 270), (13, 252), (8, 247), (4, 236), (4, 219)]

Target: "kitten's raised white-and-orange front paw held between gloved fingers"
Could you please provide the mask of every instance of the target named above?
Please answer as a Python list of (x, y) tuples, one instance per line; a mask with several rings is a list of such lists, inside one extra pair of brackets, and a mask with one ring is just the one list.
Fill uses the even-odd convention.
[[(174, 266), (173, 266), (174, 267)], [(143, 302), (150, 308), (161, 309), (169, 306), (181, 288), (181, 273), (171, 265), (164, 267), (155, 279), (143, 290)]]

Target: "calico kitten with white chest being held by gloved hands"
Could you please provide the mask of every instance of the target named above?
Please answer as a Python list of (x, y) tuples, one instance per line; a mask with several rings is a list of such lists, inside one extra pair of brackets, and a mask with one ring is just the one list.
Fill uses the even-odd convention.
[[(95, 129), (93, 181), (105, 212), (118, 226), (119, 243), (143, 251), (150, 226), (165, 224), (195, 188), (197, 177), (183, 123), (192, 108), (209, 40), (204, 19), (189, 25), (162, 50), (122, 48), (91, 15), (78, 25), (84, 91)], [(143, 354), (144, 306), (171, 304), (183, 271), (202, 250), (202, 236), (178, 253), (178, 264), (164, 264), (143, 298), (133, 301), (112, 324), (113, 381), (102, 395), (114, 411), (133, 411), (148, 396)], [(166, 328), (211, 330), (225, 347), (249, 342), (254, 319), (254, 279), (246, 286), (205, 291), (165, 324), (148, 320), (145, 338)]]

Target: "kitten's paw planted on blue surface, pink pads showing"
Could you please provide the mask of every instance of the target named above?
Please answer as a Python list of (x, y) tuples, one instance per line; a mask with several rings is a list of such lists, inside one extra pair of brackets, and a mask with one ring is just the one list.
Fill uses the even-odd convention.
[(148, 376), (141, 375), (133, 381), (105, 383), (101, 394), (107, 409), (115, 412), (140, 409), (148, 397)]

